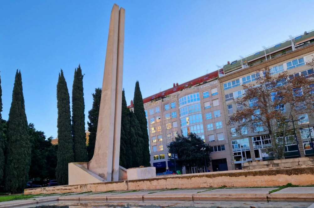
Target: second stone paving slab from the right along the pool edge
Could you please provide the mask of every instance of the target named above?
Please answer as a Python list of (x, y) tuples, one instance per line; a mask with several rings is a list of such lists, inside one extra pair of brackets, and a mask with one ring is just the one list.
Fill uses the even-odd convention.
[(193, 199), (267, 199), (268, 192), (276, 188), (215, 189), (193, 195)]

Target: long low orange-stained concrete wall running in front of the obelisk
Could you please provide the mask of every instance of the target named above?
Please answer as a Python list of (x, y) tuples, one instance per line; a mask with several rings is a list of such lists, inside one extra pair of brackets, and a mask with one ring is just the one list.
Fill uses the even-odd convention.
[(64, 185), (25, 189), (24, 194), (52, 194), (111, 190), (152, 190), (173, 188), (314, 185), (314, 165), (259, 170), (231, 170), (211, 173), (161, 176), (142, 180), (124, 180), (82, 185)]

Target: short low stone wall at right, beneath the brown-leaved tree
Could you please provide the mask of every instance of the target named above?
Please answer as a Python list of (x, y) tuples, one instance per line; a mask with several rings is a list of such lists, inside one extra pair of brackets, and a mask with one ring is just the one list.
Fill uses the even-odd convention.
[(312, 165), (314, 164), (314, 157), (299, 157), (283, 160), (267, 160), (256, 161), (243, 164), (244, 170), (254, 170), (262, 168), (284, 167), (284, 166), (297, 166), (297, 165)]

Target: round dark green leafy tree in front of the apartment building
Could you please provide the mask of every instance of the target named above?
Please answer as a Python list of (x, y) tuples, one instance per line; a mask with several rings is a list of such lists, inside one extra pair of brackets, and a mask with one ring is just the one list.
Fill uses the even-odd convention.
[(196, 134), (178, 135), (167, 147), (170, 153), (178, 155), (176, 163), (182, 167), (204, 166), (204, 157), (206, 165), (210, 163), (210, 146)]

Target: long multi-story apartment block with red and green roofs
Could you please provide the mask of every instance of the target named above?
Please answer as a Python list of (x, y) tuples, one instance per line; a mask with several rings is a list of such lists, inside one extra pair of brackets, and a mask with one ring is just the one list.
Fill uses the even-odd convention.
[[(276, 44), (263, 51), (228, 62), (223, 68), (193, 79), (143, 99), (150, 143), (151, 165), (157, 172), (174, 170), (169, 160), (167, 145), (177, 134), (198, 134), (211, 146), (210, 171), (241, 169), (245, 162), (271, 159), (270, 136), (265, 129), (251, 132), (246, 129), (242, 135), (234, 133), (235, 126), (229, 125), (230, 116), (237, 110), (234, 99), (241, 97), (242, 84), (253, 83), (260, 72), (269, 68), (271, 73), (288, 71), (291, 75), (313, 74), (306, 65), (314, 54), (314, 31)], [(300, 111), (305, 119), (298, 128), (313, 126), (314, 118), (308, 112)], [(314, 132), (312, 132), (314, 136)], [(301, 156), (312, 155), (308, 133), (298, 130)], [(288, 144), (287, 157), (295, 157), (296, 144)], [(181, 167), (179, 167), (180, 169)], [(178, 168), (177, 168), (178, 169)], [(183, 173), (203, 172), (205, 167), (186, 167)]]

